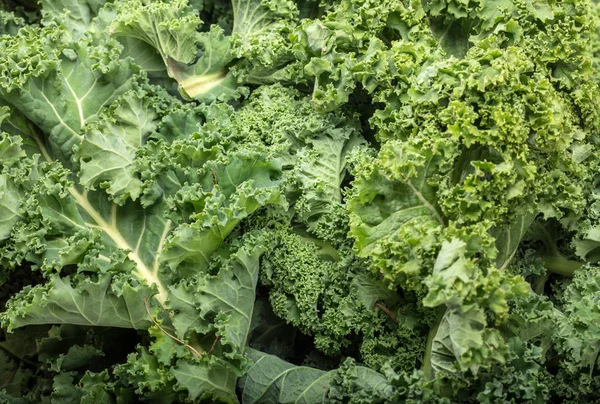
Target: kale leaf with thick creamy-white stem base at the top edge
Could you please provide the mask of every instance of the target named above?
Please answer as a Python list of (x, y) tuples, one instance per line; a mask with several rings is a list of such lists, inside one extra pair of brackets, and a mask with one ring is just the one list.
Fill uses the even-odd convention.
[[(231, 5), (231, 36), (219, 25), (202, 26), (187, 0), (121, 2), (110, 32), (153, 46), (185, 98), (206, 103), (235, 99), (248, 93), (238, 77), (258, 77), (265, 71), (270, 75), (289, 61), (285, 34), (297, 10), (288, 0), (232, 1)], [(242, 65), (241, 72), (230, 70), (233, 63)]]

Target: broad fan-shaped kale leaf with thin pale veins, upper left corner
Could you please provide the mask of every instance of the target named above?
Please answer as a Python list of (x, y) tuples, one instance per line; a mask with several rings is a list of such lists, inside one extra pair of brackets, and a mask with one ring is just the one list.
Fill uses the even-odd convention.
[[(46, 37), (48, 41), (41, 39)], [(22, 29), (0, 44), (0, 55), (6, 66), (0, 99), (49, 134), (49, 153), (64, 163), (81, 141), (86, 122), (130, 89), (136, 72), (130, 60), (118, 60), (114, 42), (72, 45), (59, 28)], [(40, 55), (43, 62), (37, 63)], [(29, 67), (21, 69), (20, 63)]]

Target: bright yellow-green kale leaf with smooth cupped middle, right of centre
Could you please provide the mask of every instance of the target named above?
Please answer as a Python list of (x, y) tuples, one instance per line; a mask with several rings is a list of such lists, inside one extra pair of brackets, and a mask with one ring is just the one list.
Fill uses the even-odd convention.
[(436, 249), (444, 219), (429, 181), (439, 163), (430, 151), (389, 142), (354, 181), (348, 209), (355, 249), (394, 283), (420, 284), (417, 278)]

